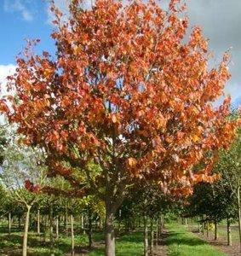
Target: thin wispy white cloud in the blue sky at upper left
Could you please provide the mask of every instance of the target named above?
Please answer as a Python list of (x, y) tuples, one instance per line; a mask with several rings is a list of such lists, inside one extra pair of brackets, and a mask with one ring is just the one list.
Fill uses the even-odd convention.
[(26, 21), (32, 21), (33, 15), (26, 4), (22, 0), (4, 0), (3, 9), (5, 12), (14, 13), (20, 12), (22, 18)]

